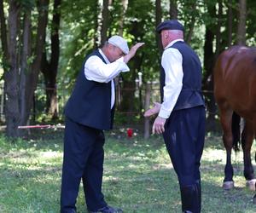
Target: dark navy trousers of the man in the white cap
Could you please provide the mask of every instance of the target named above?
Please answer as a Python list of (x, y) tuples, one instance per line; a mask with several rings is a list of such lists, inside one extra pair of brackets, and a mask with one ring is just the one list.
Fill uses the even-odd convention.
[(106, 206), (102, 194), (105, 137), (102, 130), (66, 118), (61, 180), (61, 212), (76, 210), (81, 179), (89, 210)]

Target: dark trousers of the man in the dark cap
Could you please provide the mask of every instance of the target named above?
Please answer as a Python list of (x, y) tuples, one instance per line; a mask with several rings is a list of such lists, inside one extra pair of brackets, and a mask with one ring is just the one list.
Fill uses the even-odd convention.
[(205, 141), (205, 107), (173, 111), (163, 134), (180, 185), (183, 211), (201, 212), (200, 162)]

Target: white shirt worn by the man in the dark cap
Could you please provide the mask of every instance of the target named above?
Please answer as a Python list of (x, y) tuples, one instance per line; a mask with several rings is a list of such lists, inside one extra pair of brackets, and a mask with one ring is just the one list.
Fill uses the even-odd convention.
[(173, 40), (169, 43), (161, 59), (161, 65), (166, 73), (166, 85), (164, 86), (164, 100), (159, 112), (160, 118), (170, 117), (183, 87), (183, 56), (177, 49), (171, 47), (178, 41), (183, 41), (183, 39)]

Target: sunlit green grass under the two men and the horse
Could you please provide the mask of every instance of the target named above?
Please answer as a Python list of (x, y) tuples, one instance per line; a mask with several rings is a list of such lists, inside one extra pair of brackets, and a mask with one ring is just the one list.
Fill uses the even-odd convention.
[[(129, 213), (181, 212), (177, 176), (160, 136), (127, 139), (119, 131), (106, 138), (102, 187), (108, 204)], [(232, 158), (236, 188), (224, 191), (222, 141), (218, 135), (207, 136), (201, 161), (202, 212), (256, 212), (254, 193), (242, 176), (242, 154)], [(61, 163), (60, 132), (45, 130), (42, 138), (13, 142), (0, 136), (0, 212), (59, 212)], [(87, 212), (82, 186), (77, 207)]]

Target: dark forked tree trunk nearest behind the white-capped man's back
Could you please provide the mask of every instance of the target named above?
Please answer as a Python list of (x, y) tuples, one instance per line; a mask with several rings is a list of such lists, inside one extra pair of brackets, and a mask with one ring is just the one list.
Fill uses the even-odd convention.
[(46, 112), (51, 115), (52, 119), (58, 118), (59, 107), (57, 99), (56, 78), (60, 57), (60, 38), (59, 29), (61, 22), (61, 0), (55, 0), (53, 9), (53, 19), (50, 32), (50, 61), (47, 60), (46, 49), (42, 58), (42, 72), (44, 74), (44, 85), (46, 94)]

